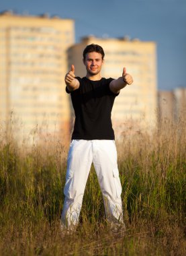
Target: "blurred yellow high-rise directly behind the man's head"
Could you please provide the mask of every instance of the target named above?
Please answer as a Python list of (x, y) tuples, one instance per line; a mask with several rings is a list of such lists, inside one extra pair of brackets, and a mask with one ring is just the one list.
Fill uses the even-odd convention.
[(113, 127), (124, 131), (126, 121), (139, 130), (138, 125), (154, 127), (156, 123), (156, 43), (128, 38), (95, 38), (88, 36), (68, 50), (69, 67), (75, 65), (75, 75), (85, 76), (83, 49), (88, 44), (99, 44), (105, 51), (102, 77), (118, 78), (123, 68), (134, 78), (132, 86), (126, 86), (115, 98), (112, 110)]

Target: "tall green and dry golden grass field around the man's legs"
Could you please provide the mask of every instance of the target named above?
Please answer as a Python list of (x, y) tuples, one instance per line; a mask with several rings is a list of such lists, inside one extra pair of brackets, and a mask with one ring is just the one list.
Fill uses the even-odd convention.
[(104, 219), (91, 168), (77, 232), (62, 237), (66, 150), (46, 138), (26, 150), (0, 141), (0, 255), (186, 255), (186, 122), (117, 143), (126, 234)]

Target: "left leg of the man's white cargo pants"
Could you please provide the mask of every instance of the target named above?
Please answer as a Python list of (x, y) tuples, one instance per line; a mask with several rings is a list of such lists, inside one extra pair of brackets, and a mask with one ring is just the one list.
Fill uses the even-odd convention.
[(64, 206), (61, 221), (64, 226), (77, 225), (85, 185), (93, 161), (92, 143), (83, 139), (73, 140), (67, 160)]

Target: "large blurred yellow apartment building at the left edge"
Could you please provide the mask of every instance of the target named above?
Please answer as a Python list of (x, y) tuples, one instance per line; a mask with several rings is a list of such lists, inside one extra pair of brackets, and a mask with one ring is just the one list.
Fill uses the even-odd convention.
[(1, 123), (8, 124), (13, 113), (26, 134), (35, 127), (42, 134), (66, 131), (66, 50), (74, 44), (74, 34), (73, 20), (0, 14)]

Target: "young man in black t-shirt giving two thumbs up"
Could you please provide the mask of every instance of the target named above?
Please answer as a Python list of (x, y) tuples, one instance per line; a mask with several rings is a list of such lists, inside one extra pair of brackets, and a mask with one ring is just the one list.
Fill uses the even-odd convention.
[(79, 222), (92, 162), (103, 194), (105, 217), (111, 224), (123, 224), (122, 186), (111, 125), (111, 109), (115, 96), (127, 84), (132, 84), (133, 79), (126, 73), (125, 67), (118, 79), (101, 77), (104, 55), (101, 46), (88, 45), (83, 51), (86, 76), (76, 77), (74, 65), (65, 76), (66, 92), (71, 94), (75, 110), (61, 216), (62, 226), (68, 229), (75, 228)]

